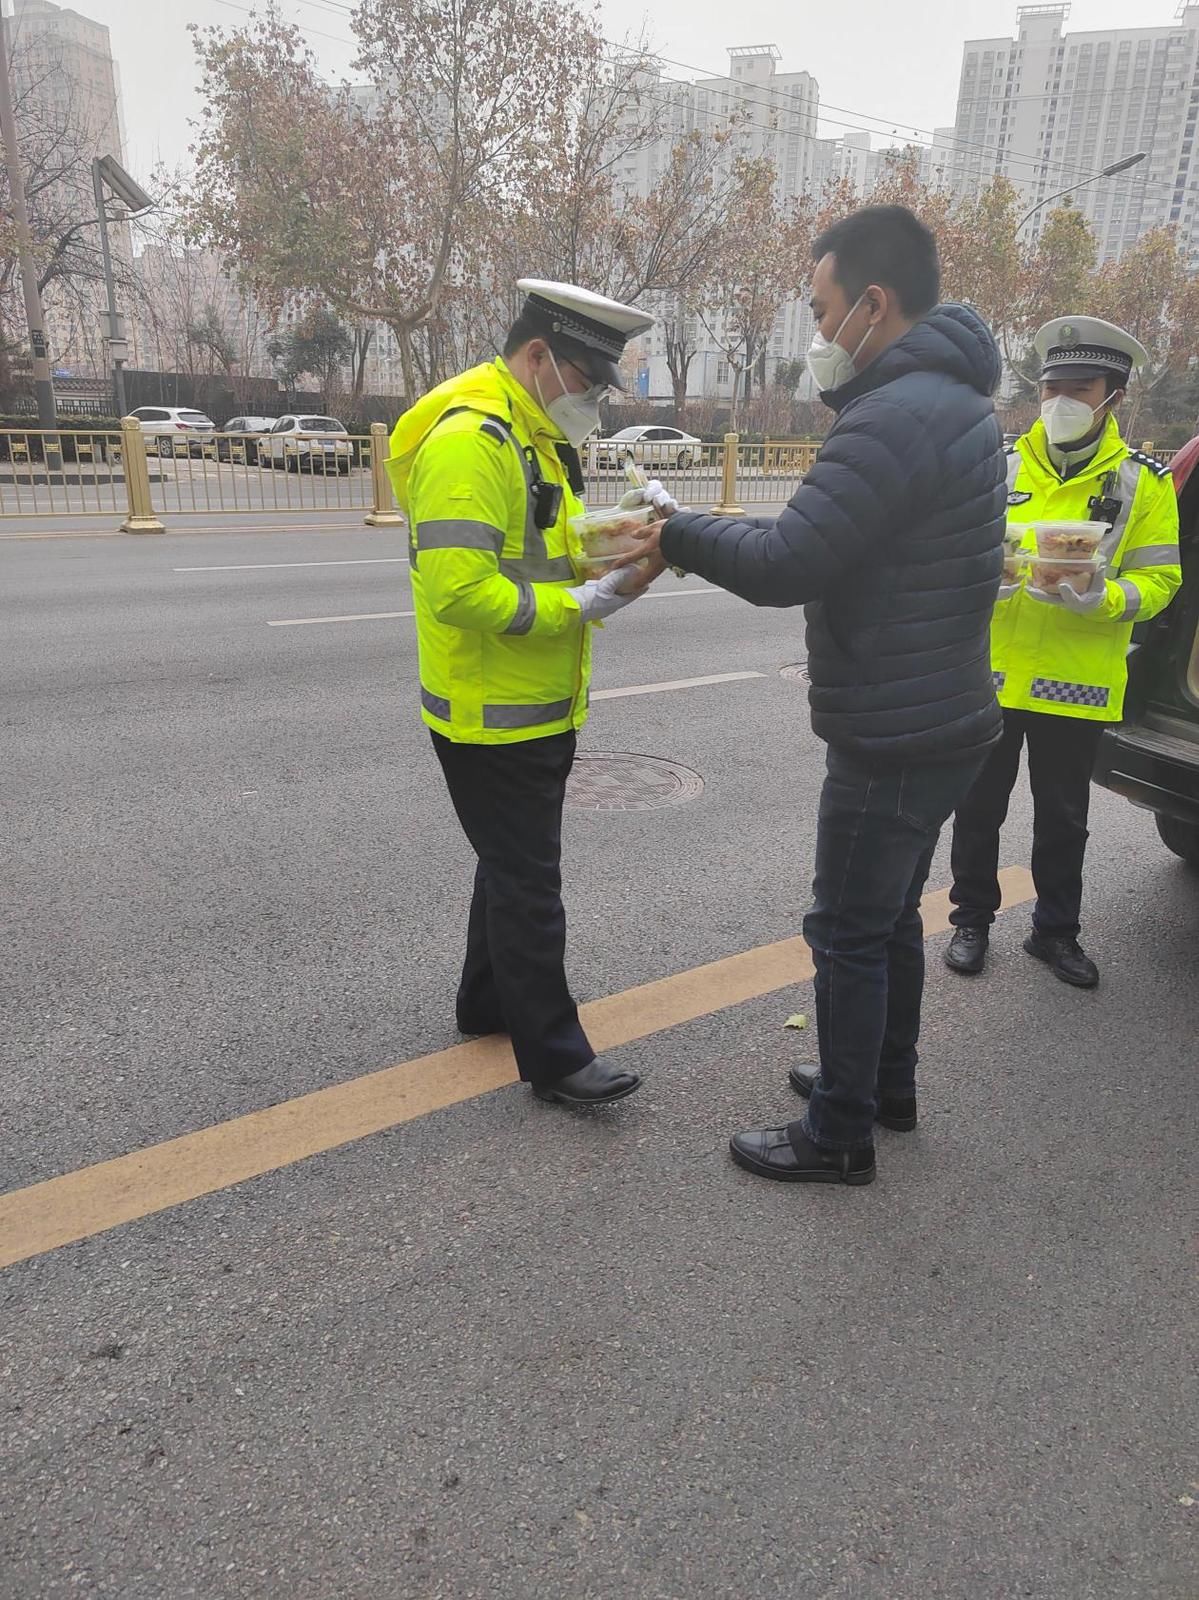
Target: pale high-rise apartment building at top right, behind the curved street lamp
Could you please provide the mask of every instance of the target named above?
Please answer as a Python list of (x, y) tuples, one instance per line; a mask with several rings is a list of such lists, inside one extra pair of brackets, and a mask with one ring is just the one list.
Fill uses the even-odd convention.
[[(1165, 5), (1165, 0), (1156, 0)], [(1026, 206), (1143, 150), (1129, 173), (1073, 197), (1105, 259), (1175, 224), (1199, 261), (1199, 3), (1157, 27), (1066, 32), (1069, 5), (1017, 10), (1013, 38), (970, 38), (946, 176), (973, 194), (1002, 173)], [(1028, 224), (1036, 238), (1052, 206)]]

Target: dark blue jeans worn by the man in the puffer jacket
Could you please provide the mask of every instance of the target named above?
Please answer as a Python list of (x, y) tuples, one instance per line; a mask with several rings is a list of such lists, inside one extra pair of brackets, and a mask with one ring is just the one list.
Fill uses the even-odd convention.
[(916, 1093), (920, 894), (941, 827), (981, 760), (879, 770), (829, 746), (804, 918), (820, 1030), (804, 1131), (829, 1150), (872, 1144), (879, 1096)]

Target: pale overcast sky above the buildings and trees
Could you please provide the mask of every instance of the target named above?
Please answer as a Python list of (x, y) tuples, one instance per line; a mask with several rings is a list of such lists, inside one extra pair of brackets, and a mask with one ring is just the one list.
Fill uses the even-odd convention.
[[(146, 178), (157, 160), (186, 158), (189, 118), (198, 110), (189, 22), (237, 27), (253, 0), (75, 0), (75, 10), (106, 22), (122, 75), (126, 165)], [(307, 34), (330, 77), (352, 77), (349, 18), (338, 0), (280, 0), (280, 10)], [(1165, 27), (1177, 0), (1074, 0), (1071, 32), (1093, 27)], [(684, 62), (674, 77), (727, 70), (730, 45), (778, 45), (780, 70), (812, 72), (828, 110), (823, 133), (840, 123), (869, 125), (884, 136), (927, 136), (954, 120), (962, 40), (1010, 37), (1013, 0), (821, 0), (792, 3), (740, 0), (730, 22), (727, 0), (602, 0), (608, 38), (650, 32), (653, 46)], [(335, 37), (327, 37), (335, 35)], [(339, 35), (339, 38), (336, 37)], [(695, 69), (695, 70), (688, 70)], [(866, 123), (861, 114), (882, 122)], [(876, 141), (877, 142), (877, 141)]]

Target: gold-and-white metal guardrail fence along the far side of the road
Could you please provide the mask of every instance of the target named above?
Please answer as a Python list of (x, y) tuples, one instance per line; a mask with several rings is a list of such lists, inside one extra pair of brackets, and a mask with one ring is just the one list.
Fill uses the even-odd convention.
[[(1153, 450), (1151, 443), (1143, 445)], [(767, 440), (743, 445), (634, 446), (634, 461), (684, 506), (732, 512), (780, 504), (816, 459), (820, 445)], [(125, 533), (162, 533), (163, 517), (224, 512), (360, 510), (394, 525), (384, 470), (387, 429), (370, 434), (144, 434), (136, 418), (112, 429), (0, 429), (0, 520), (5, 517), (120, 517)], [(1161, 450), (1169, 462), (1177, 451)], [(613, 506), (628, 488), (624, 458), (604, 440), (584, 446), (584, 494)]]

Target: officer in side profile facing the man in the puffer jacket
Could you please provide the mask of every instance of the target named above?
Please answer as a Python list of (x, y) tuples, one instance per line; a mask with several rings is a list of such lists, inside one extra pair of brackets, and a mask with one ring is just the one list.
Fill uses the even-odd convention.
[(562, 803), (592, 624), (644, 579), (584, 582), (570, 518), (584, 509), (578, 446), (653, 318), (567, 283), (519, 288), (503, 357), (407, 411), (387, 472), (410, 528), (421, 710), (479, 858), (458, 1026), (509, 1034), (541, 1099), (597, 1104), (640, 1080), (595, 1059), (567, 987)]

